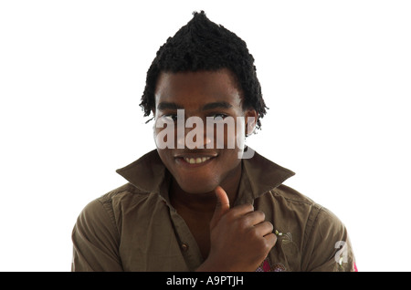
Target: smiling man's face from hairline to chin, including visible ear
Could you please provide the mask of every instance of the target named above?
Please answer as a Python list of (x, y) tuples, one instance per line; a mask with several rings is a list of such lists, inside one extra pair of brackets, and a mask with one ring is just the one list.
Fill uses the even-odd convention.
[[(238, 140), (245, 139), (247, 117), (257, 119), (254, 109), (243, 110), (241, 100), (241, 91), (227, 69), (159, 76), (155, 90), (154, 138), (163, 164), (184, 192), (211, 192), (238, 171), (243, 150)], [(179, 118), (184, 117), (179, 119), (178, 129), (177, 114)], [(202, 123), (187, 126), (189, 122), (185, 121), (194, 117)], [(224, 123), (229, 119), (234, 122), (229, 125), (227, 122), (219, 130), (216, 124), (207, 125), (210, 120)], [(164, 122), (167, 127), (163, 126)], [(169, 134), (164, 139), (163, 127), (173, 136)], [(164, 141), (168, 141), (167, 148), (159, 146)]]

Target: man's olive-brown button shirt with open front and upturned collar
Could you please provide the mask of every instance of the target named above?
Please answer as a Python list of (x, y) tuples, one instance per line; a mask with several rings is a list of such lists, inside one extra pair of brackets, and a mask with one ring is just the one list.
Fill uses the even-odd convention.
[[(194, 271), (204, 262), (169, 198), (172, 176), (156, 150), (117, 171), (128, 183), (90, 202), (72, 232), (72, 271)], [(281, 184), (294, 172), (256, 152), (242, 160), (234, 204), (251, 202), (278, 240), (256, 271), (356, 271), (345, 226)]]

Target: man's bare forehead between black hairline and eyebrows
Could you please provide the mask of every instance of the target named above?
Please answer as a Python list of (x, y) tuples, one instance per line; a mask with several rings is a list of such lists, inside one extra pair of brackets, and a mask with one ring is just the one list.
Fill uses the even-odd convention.
[(241, 91), (234, 75), (227, 69), (197, 72), (162, 72), (155, 89), (155, 104), (174, 102), (181, 107), (202, 106), (225, 101), (241, 106)]

